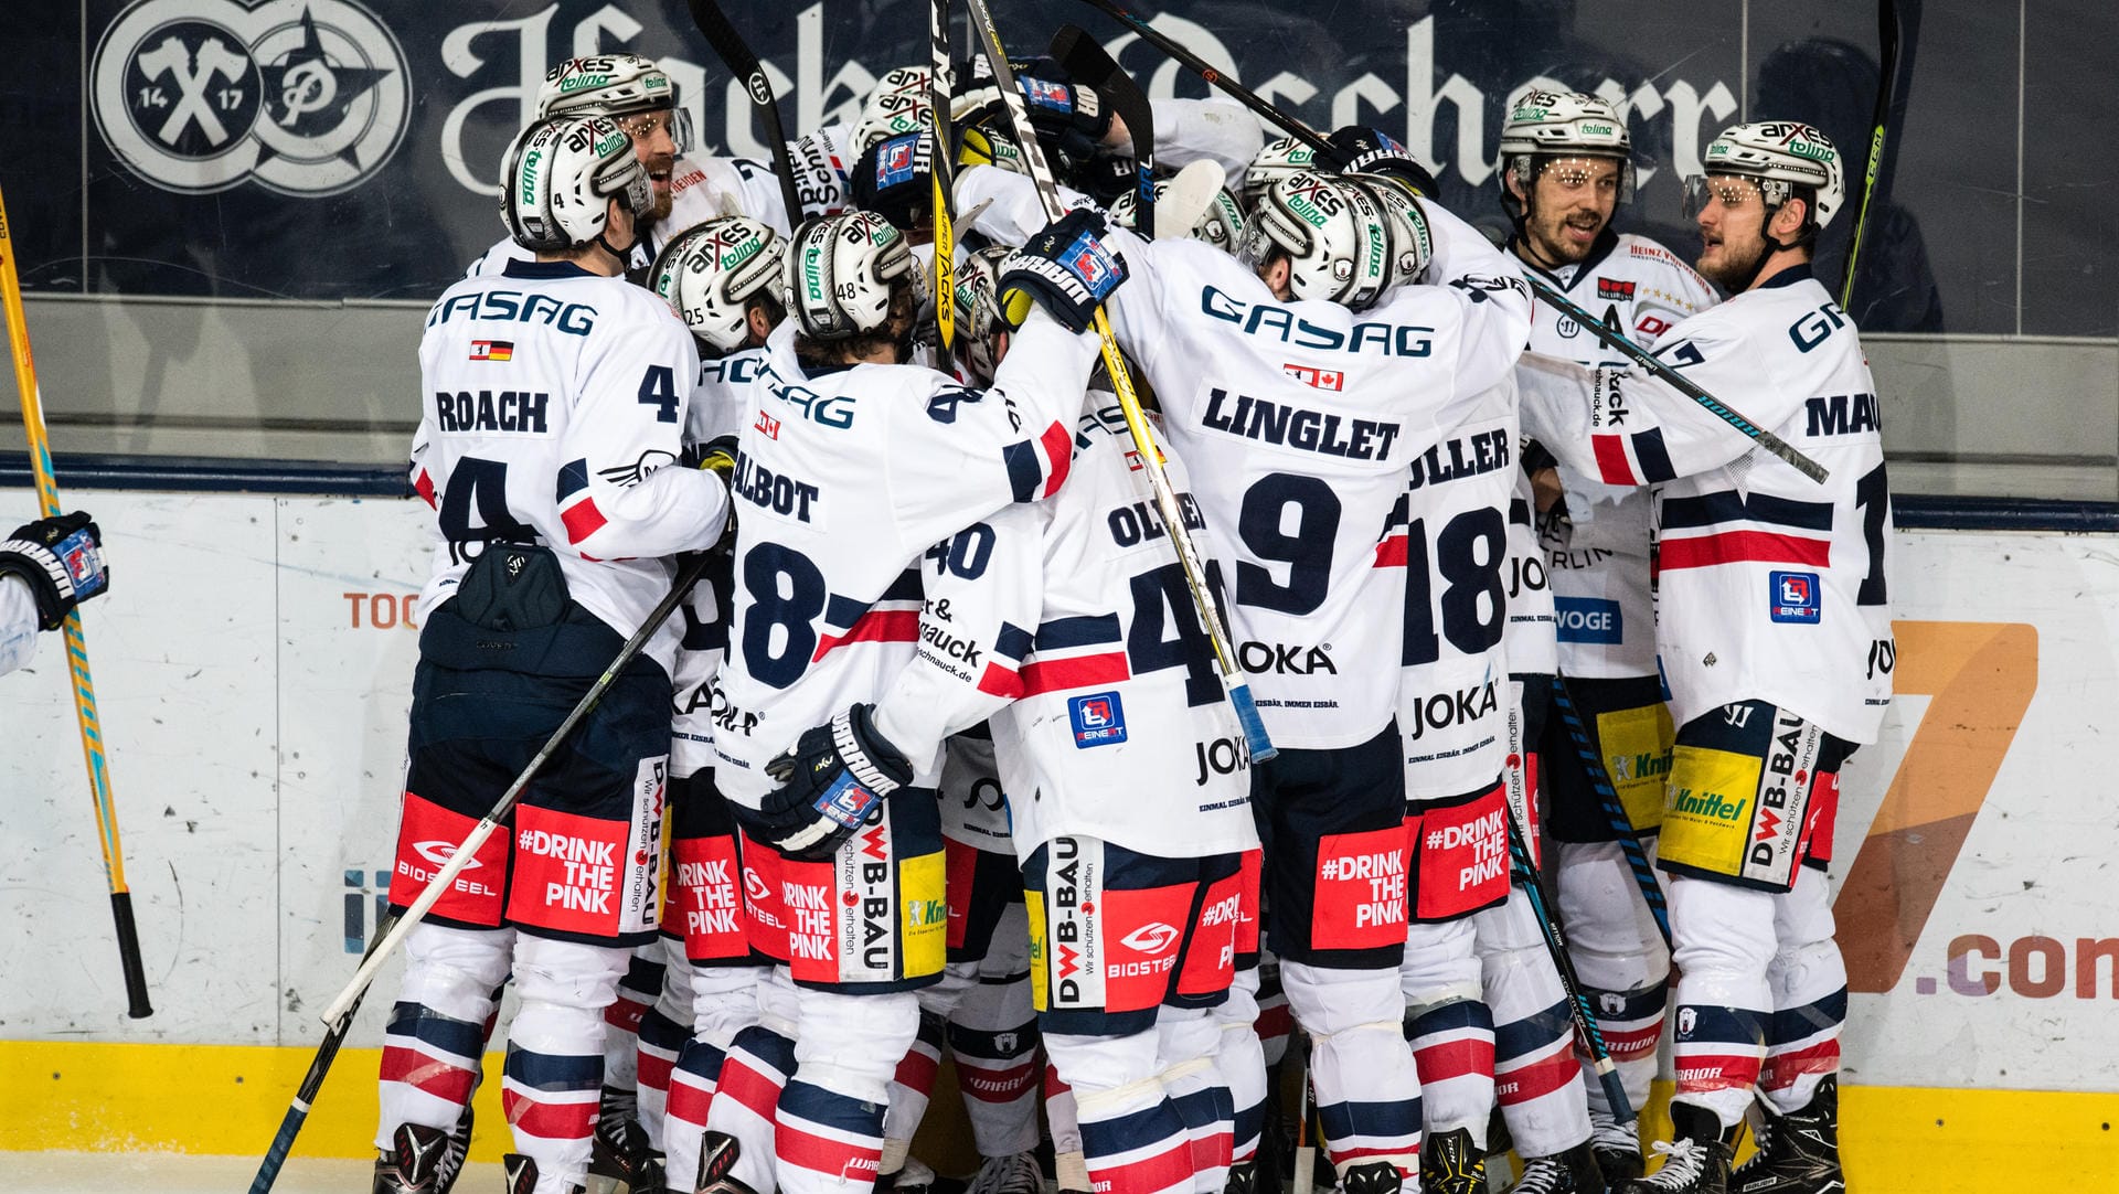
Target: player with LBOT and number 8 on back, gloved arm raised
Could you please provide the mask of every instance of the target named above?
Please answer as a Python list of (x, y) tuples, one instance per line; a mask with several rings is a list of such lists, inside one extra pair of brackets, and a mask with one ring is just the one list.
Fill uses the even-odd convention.
[(805, 224), (788, 250), (793, 320), (750, 390), (731, 724), (714, 752), (746, 836), (784, 855), (763, 898), (782, 906), (795, 982), (797, 1073), (776, 1107), (778, 1179), (795, 1194), (873, 1183), (888, 1082), (918, 1029), (913, 991), (943, 963), (941, 741), (867, 711), (913, 652), (913, 565), (979, 517), (1060, 487), (1093, 356), (1079, 330), (1121, 279), (1085, 214), (1030, 243), (1007, 284), (1043, 309), (1017, 332), (1019, 362), (971, 390), (901, 364), (918, 294), (896, 229), (867, 212)]

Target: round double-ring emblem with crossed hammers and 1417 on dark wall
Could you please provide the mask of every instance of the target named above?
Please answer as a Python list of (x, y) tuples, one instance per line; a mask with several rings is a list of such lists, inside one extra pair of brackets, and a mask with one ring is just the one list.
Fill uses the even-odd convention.
[(140, 0), (95, 47), (104, 140), (165, 191), (335, 195), (405, 138), (405, 51), (352, 0)]

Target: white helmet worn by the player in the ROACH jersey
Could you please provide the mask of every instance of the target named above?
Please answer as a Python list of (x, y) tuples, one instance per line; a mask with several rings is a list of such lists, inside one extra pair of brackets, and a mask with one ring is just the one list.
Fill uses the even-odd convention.
[[(536, 121), (515, 135), (500, 161), (500, 218), (530, 252), (602, 241), (608, 199), (619, 199), (634, 216), (655, 207), (648, 171), (610, 116)], [(612, 256), (623, 254), (612, 250)]]

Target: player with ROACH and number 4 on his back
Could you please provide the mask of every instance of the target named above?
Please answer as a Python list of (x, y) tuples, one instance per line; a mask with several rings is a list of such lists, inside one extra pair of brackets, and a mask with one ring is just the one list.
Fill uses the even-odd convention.
[[(674, 574), (712, 544), (725, 485), (667, 468), (697, 351), (653, 294), (617, 279), (646, 169), (610, 119), (526, 129), (504, 216), (536, 260), (451, 286), (420, 347), (411, 481), (434, 506), (394, 908), (528, 764)], [(657, 927), (655, 840), (670, 754), (667, 629), (619, 675), (509, 834), (405, 940), (381, 1061), (375, 1190), (439, 1190), (494, 989), (513, 970), (502, 1103), (513, 1194), (578, 1190), (602, 1080), (604, 1010)], [(481, 874), (494, 879), (481, 879)], [(502, 879), (504, 876), (504, 879)]]

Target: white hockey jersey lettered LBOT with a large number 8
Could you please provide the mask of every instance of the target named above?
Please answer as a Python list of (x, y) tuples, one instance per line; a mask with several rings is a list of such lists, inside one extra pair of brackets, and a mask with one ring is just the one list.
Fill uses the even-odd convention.
[[(1096, 341), (1034, 311), (992, 390), (920, 366), (807, 375), (795, 322), (767, 341), (735, 464), (735, 620), (716, 724), (723, 792), (756, 807), (765, 764), (877, 701), (920, 637), (924, 553), (1060, 489)], [(884, 728), (884, 726), (879, 726)], [(941, 737), (907, 752), (934, 783)]]

